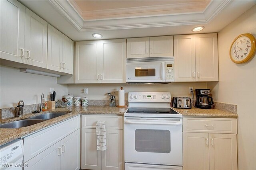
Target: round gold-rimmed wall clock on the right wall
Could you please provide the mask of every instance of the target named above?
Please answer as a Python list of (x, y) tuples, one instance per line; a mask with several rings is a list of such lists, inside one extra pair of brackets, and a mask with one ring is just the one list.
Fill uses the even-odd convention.
[(244, 63), (254, 55), (255, 49), (255, 38), (252, 34), (238, 35), (230, 46), (230, 59), (234, 63)]

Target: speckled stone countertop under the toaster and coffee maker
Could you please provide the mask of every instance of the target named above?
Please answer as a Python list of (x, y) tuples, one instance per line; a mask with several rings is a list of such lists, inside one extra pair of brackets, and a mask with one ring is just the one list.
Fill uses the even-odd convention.
[(192, 107), (191, 109), (172, 109), (178, 111), (183, 117), (222, 117), (222, 118), (236, 118), (238, 114), (219, 109), (200, 109)]

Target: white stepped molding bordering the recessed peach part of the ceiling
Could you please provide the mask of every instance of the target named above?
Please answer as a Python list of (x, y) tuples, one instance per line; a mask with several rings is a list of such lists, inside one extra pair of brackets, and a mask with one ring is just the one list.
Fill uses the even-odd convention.
[[(79, 17), (80, 20), (83, 20), (81, 16), (78, 14), (77, 11), (74, 10), (74, 7), (72, 4), (70, 4), (68, 1), (60, 1), (60, 3), (57, 2), (57, 0), (50, 0), (50, 2), (61, 12), (61, 14), (64, 15), (67, 20), (74, 25), (74, 27), (81, 32), (84, 31), (106, 31), (106, 30), (113, 30), (113, 29), (132, 29), (132, 28), (146, 28), (146, 27), (164, 27), (164, 26), (178, 26), (178, 25), (204, 25), (209, 23), (220, 11), (223, 9), (231, 0), (227, 1), (212, 1), (207, 6), (207, 9), (204, 10), (204, 12), (199, 13), (193, 13), (193, 14), (172, 14), (170, 16), (175, 16), (175, 20), (182, 20), (183, 21), (171, 21), (171, 22), (165, 22), (162, 21), (160, 23), (159, 20), (155, 19), (155, 23), (143, 23), (143, 24), (137, 24), (138, 20), (141, 18), (141, 20), (149, 20), (151, 22), (152, 18), (154, 16), (142, 16), (140, 18), (136, 18), (138, 20), (131, 21), (131, 18), (122, 19), (122, 23), (124, 25), (110, 25), (111, 21), (118, 21), (119, 19), (114, 20), (98, 20), (98, 21), (84, 21), (83, 24), (78, 22), (77, 18)], [(72, 11), (70, 11), (72, 9)], [(75, 13), (75, 14), (74, 14)], [(72, 14), (72, 16), (70, 15)], [(195, 18), (201, 18), (200, 20), (188, 20), (187, 18), (191, 18), (192, 16), (196, 16)], [(158, 18), (161, 17), (169, 17), (169, 16), (158, 16)], [(166, 21), (170, 21), (165, 18)], [(116, 23), (116, 22), (115, 22)], [(90, 26), (90, 25), (96, 25), (96, 26)], [(103, 26), (99, 26), (103, 25)]]

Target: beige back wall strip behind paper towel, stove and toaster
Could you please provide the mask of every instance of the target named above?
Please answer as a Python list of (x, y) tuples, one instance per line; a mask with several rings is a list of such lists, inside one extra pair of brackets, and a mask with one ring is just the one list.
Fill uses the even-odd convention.
[[(123, 87), (125, 98), (128, 100), (128, 92), (171, 92), (171, 96), (188, 96), (189, 87), (206, 88), (206, 83), (170, 83), (170, 84), (75, 84), (68, 85), (68, 93), (74, 96), (86, 96), (89, 100), (108, 100), (107, 93), (115, 95), (118, 99), (118, 90)], [(82, 90), (88, 88), (88, 94)], [(195, 100), (195, 99), (194, 99)]]

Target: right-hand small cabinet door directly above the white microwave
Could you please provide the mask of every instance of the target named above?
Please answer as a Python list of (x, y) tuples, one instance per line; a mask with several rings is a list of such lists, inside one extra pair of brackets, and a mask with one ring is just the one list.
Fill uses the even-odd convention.
[(149, 38), (150, 57), (172, 57), (173, 37), (161, 36)]

